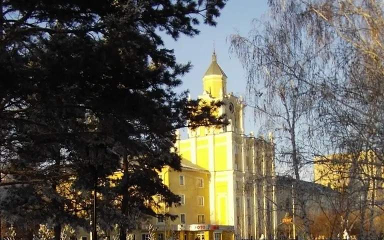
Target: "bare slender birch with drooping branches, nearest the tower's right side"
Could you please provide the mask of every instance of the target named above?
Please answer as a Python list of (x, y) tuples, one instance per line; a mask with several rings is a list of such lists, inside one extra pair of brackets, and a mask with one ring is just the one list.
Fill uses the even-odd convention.
[(293, 194), (297, 217), (309, 237), (305, 201), (300, 199), (304, 189), (299, 189), (297, 182), (310, 160), (305, 141), (318, 98), (310, 83), (316, 79), (319, 66), (314, 44), (302, 38), (305, 31), (289, 21), (290, 14), (292, 11), (280, 12), (273, 20), (255, 25), (247, 37), (231, 35), (230, 49), (245, 69), (247, 104), (253, 108), (255, 119), (261, 120), (261, 132), (275, 134), (276, 159), (284, 163), (285, 174), (296, 179)]

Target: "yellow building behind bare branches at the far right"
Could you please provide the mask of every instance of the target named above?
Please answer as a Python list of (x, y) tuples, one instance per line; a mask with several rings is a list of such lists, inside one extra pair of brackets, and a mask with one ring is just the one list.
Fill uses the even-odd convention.
[(336, 212), (347, 214), (349, 222), (357, 222), (355, 233), (360, 230), (358, 224), (367, 232), (378, 233), (383, 228), (384, 165), (379, 158), (368, 150), (314, 160), (314, 181), (339, 192)]

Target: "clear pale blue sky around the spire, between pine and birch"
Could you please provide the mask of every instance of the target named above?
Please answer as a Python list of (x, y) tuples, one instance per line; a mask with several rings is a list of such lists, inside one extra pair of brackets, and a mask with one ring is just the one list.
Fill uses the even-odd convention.
[[(202, 93), (202, 76), (209, 66), (214, 41), (217, 62), (228, 76), (227, 91), (245, 96), (245, 72), (236, 56), (228, 51), (228, 37), (236, 32), (247, 35), (252, 28), (252, 20), (262, 20), (267, 11), (267, 0), (229, 0), (216, 19), (216, 27), (200, 25), (199, 35), (181, 36), (177, 41), (164, 36), (165, 47), (174, 49), (177, 62), (190, 61), (193, 65), (189, 73), (182, 77), (180, 90), (189, 89), (192, 98)], [(245, 133), (258, 131), (259, 125), (254, 122), (249, 107), (245, 110), (244, 123)]]

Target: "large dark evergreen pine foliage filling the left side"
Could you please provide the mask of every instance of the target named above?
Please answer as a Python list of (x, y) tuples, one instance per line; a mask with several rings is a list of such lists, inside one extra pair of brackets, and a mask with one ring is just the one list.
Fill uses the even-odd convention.
[(190, 65), (158, 33), (193, 36), (224, 2), (0, 0), (1, 217), (86, 227), (95, 181), (103, 227), (177, 202), (156, 173), (180, 167), (174, 130), (223, 121), (174, 92)]

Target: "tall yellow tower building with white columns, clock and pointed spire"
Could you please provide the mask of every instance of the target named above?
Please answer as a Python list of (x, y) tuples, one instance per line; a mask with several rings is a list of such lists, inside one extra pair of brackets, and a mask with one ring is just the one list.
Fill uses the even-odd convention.
[(226, 80), (213, 52), (198, 98), (222, 101), (218, 113), (225, 114), (229, 124), (188, 129), (188, 137), (178, 140), (176, 148), (184, 159), (209, 173), (205, 183), (209, 195), (205, 200), (209, 209), (204, 213), (206, 222), (234, 226), (236, 238), (258, 238), (261, 233), (273, 237), (273, 144), (252, 133), (244, 134), (245, 104), (241, 97), (227, 93)]

